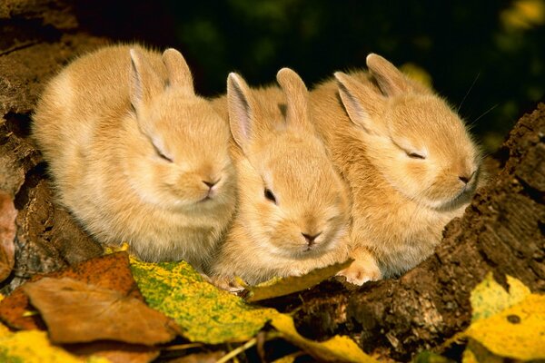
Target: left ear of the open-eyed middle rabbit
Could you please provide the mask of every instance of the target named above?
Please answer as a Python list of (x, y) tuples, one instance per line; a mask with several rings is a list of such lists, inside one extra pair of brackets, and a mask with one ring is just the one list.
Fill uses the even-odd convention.
[(257, 136), (258, 117), (250, 87), (239, 74), (231, 73), (227, 77), (227, 108), (233, 139), (246, 152)]

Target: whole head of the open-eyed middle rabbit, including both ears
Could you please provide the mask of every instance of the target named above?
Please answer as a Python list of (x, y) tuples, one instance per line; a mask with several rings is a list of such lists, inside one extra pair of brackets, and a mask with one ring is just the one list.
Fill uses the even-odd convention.
[(307, 259), (337, 246), (349, 201), (309, 120), (302, 79), (288, 68), (276, 79), (287, 104), (260, 102), (238, 74), (227, 80), (231, 132), (243, 153), (238, 218), (260, 250)]

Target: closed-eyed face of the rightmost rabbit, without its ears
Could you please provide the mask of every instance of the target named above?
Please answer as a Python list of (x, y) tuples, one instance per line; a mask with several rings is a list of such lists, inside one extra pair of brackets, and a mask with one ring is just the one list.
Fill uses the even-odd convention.
[(386, 132), (367, 142), (384, 178), (411, 200), (430, 208), (467, 203), (479, 177), (478, 152), (461, 119), (436, 97), (391, 100), (378, 123)]

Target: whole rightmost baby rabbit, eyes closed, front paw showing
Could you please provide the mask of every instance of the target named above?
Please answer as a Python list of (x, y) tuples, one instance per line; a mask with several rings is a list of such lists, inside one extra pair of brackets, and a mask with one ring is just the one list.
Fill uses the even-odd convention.
[(351, 267), (362, 284), (426, 259), (468, 205), (480, 152), (439, 96), (377, 54), (369, 74), (335, 74), (311, 93), (311, 110), (333, 163), (352, 191)]

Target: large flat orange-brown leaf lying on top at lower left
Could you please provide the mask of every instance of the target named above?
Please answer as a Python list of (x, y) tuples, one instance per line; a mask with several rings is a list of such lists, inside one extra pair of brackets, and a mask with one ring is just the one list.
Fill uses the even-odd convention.
[(172, 340), (172, 319), (139, 299), (69, 278), (44, 278), (23, 286), (55, 344), (119, 340), (154, 346)]

